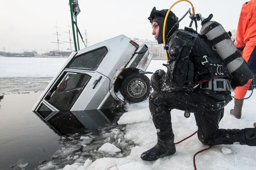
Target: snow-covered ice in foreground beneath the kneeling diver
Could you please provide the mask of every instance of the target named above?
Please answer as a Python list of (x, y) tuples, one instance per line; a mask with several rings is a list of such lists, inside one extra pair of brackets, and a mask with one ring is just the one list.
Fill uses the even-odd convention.
[[(153, 72), (157, 69), (161, 69), (162, 63), (164, 63), (164, 61), (153, 60), (147, 71)], [(162, 69), (166, 70), (165, 68)], [(233, 108), (233, 101), (231, 101), (225, 107), (224, 117), (219, 124), (220, 128), (253, 127), (253, 122), (256, 121), (256, 105), (254, 103), (256, 103), (256, 94), (253, 94), (253, 96), (244, 101), (242, 118), (236, 119), (229, 113), (230, 109)], [(132, 147), (131, 153), (126, 157), (105, 157), (86, 164), (86, 167), (84, 166), (85, 163), (79, 165), (84, 166), (86, 170), (107, 170), (113, 165), (116, 165), (116, 167), (112, 167), (110, 170), (194, 169), (194, 154), (199, 150), (207, 148), (207, 146), (201, 144), (197, 135), (177, 144), (177, 152), (172, 156), (167, 156), (156, 161), (143, 161), (140, 159), (141, 153), (153, 147), (157, 142), (157, 131), (153, 125), (148, 109), (148, 100), (140, 103), (127, 104), (125, 105), (125, 110), (127, 112), (120, 117), (118, 123), (126, 125), (124, 138), (132, 140), (137, 146)], [(193, 114), (191, 114), (189, 118), (185, 118), (183, 116), (184, 112), (176, 109), (172, 110), (171, 114), (175, 142), (186, 138), (197, 130)], [(105, 142), (108, 142), (108, 140)], [(110, 149), (110, 147), (108, 149)], [(198, 170), (256, 170), (254, 164), (256, 160), (255, 153), (256, 147), (238, 144), (217, 145), (207, 151), (199, 153), (195, 157), (195, 162)]]

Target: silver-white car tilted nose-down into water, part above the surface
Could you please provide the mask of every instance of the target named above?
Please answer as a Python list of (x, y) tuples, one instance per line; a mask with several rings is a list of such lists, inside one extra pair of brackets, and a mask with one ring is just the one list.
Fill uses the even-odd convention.
[(86, 111), (142, 102), (151, 93), (145, 75), (151, 59), (147, 45), (124, 35), (74, 51), (32, 111)]

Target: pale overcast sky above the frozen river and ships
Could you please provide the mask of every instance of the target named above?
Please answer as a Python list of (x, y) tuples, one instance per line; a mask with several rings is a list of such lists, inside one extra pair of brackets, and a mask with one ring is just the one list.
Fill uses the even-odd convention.
[[(169, 9), (176, 0), (78, 0), (80, 14), (78, 26), (82, 34), (87, 30), (89, 45), (124, 34), (129, 38), (153, 39), (151, 23), (147, 19), (151, 9)], [(237, 28), (241, 6), (245, 0), (191, 0), (196, 13), (203, 17), (213, 14), (226, 31)], [(56, 20), (60, 42), (69, 41), (69, 0), (0, 0), (0, 51), (22, 52), (41, 49), (58, 49)], [(191, 8), (180, 2), (172, 11), (181, 18)], [(189, 25), (189, 16), (180, 23), (180, 28)], [(193, 25), (194, 27), (194, 25)], [(195, 27), (194, 27), (195, 28)], [(201, 27), (200, 27), (201, 28)], [(84, 35), (83, 35), (84, 36)], [(84, 38), (85, 39), (85, 38)], [(72, 38), (73, 40), (73, 38)], [(60, 50), (70, 47), (61, 44)], [(80, 47), (84, 45), (80, 43)], [(72, 47), (74, 49), (74, 47)], [(44, 52), (44, 51), (43, 51)]]

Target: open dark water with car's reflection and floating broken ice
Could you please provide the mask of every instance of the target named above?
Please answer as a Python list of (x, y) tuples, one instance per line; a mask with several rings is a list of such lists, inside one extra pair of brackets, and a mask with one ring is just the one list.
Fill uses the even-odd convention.
[[(116, 157), (127, 156), (127, 148), (134, 146), (133, 142), (123, 138), (124, 126), (116, 124), (121, 112), (34, 113), (31, 109), (40, 95), (34, 92), (6, 94), (1, 100), (0, 170), (22, 169), (20, 165), (27, 163), (25, 169), (32, 170), (48, 162), (53, 163), (56, 169), (74, 163), (74, 156), (80, 157), (79, 162), (87, 158), (95, 160), (108, 157), (110, 155), (93, 152), (107, 138), (122, 150), (128, 150)], [(82, 141), (81, 136), (90, 136), (92, 144)]]

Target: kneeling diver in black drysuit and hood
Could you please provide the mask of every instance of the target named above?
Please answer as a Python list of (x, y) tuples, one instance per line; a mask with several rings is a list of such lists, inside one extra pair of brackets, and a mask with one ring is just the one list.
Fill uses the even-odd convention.
[[(153, 29), (155, 23), (159, 26), (159, 44), (163, 43), (163, 23), (167, 11), (157, 11), (154, 7), (148, 17)], [(232, 100), (230, 73), (205, 37), (192, 28), (178, 29), (178, 24), (175, 26), (177, 21), (175, 14), (170, 11), (165, 32), (169, 64), (166, 65), (166, 73), (157, 70), (152, 75), (154, 91), (149, 95), (149, 109), (157, 129), (157, 144), (142, 153), (141, 159), (153, 161), (176, 152), (172, 109), (194, 113), (198, 139), (205, 145), (256, 146), (256, 128), (219, 129), (224, 106)]]

